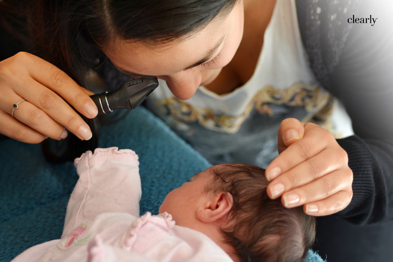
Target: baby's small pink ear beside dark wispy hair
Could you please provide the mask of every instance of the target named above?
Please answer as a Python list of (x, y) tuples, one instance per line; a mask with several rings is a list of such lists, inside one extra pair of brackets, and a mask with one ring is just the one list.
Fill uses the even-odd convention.
[(228, 192), (209, 193), (203, 206), (198, 207), (196, 218), (211, 223), (224, 218), (233, 206), (232, 195)]

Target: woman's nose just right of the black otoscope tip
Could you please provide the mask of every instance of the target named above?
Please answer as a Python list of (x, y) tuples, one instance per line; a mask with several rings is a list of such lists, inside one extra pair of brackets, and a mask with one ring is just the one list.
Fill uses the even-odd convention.
[(172, 75), (160, 75), (158, 78), (167, 82), (169, 89), (178, 99), (185, 100), (191, 98), (200, 86), (202, 74), (189, 69)]

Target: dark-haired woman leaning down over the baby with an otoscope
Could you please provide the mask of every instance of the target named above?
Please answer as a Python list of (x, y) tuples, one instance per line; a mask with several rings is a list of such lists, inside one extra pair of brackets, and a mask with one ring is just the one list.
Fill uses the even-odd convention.
[[(318, 224), (315, 249), (329, 261), (390, 259), (388, 8), (357, 1), (129, 2), (42, 1), (27, 10), (34, 16), (21, 27), (33, 41), (20, 50), (41, 59), (11, 53), (0, 62), (0, 133), (26, 143), (71, 137), (67, 130), (90, 139), (95, 129), (73, 110), (97, 114), (92, 92), (81, 88), (88, 76), (101, 75), (114, 89), (127, 74), (156, 75), (161, 86), (149, 107), (208, 160), (262, 166), (278, 146), (266, 167), (269, 196), (316, 216), (340, 211)], [(350, 134), (334, 115), (332, 95), (355, 136), (332, 135)]]

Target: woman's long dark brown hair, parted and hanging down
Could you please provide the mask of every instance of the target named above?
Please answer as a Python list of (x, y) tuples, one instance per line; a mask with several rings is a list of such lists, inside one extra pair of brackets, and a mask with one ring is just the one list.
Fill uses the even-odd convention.
[[(202, 29), (217, 15), (226, 15), (238, 1), (6, 0), (0, 2), (0, 22), (15, 38), (25, 42), (28, 49), (20, 51), (51, 62), (81, 86), (86, 87), (89, 73), (97, 72), (108, 89), (116, 89), (129, 76), (116, 70), (101, 51), (109, 41), (117, 38), (149, 45), (172, 42)], [(97, 137), (96, 121), (86, 121)], [(71, 137), (70, 134), (68, 139)], [(97, 146), (94, 139), (73, 139), (66, 144), (86, 146), (65, 150), (73, 151), (66, 160)]]

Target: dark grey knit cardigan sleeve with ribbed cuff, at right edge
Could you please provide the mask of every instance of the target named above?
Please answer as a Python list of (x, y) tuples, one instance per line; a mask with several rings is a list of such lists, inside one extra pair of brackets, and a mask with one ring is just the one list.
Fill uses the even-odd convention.
[[(336, 214), (354, 224), (393, 220), (393, 10), (389, 6), (389, 2), (366, 0), (346, 15), (323, 16), (327, 9), (320, 13), (322, 24), (331, 24), (329, 19), (337, 18), (338, 24), (345, 25), (338, 29), (352, 26), (341, 47), (334, 46), (340, 41), (331, 41), (331, 36), (321, 32), (320, 53), (327, 77), (325, 87), (345, 106), (355, 134), (337, 140), (348, 154), (354, 179), (351, 203)], [(309, 11), (303, 9), (303, 15)], [(378, 18), (374, 26), (348, 23), (348, 18), (370, 15)], [(299, 18), (302, 28), (301, 23)], [(302, 36), (307, 42), (307, 29), (303, 29)], [(329, 58), (332, 53), (338, 54), (338, 59)], [(313, 54), (309, 53), (309, 57)]]

